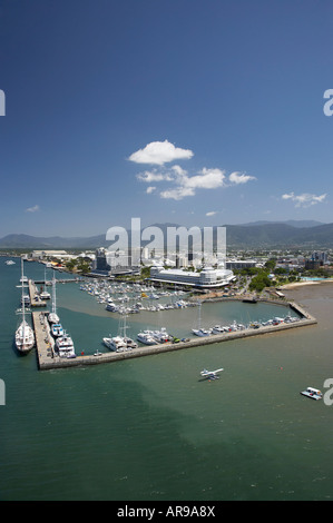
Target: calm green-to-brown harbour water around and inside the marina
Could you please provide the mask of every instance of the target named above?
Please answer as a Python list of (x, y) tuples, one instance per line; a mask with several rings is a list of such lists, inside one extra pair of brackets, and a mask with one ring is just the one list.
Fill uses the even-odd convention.
[[(26, 274), (43, 278), (43, 266)], [(57, 274), (57, 277), (60, 275)], [(292, 292), (319, 325), (92, 367), (39, 372), (13, 346), (20, 265), (0, 258), (1, 500), (331, 500), (333, 406), (300, 395), (333, 377), (333, 285)], [(77, 284), (57, 285), (77, 352), (104, 351), (118, 316)], [(197, 307), (128, 318), (135, 337), (188, 336)], [(290, 310), (205, 304), (203, 326)], [(224, 367), (215, 382), (204, 367)]]

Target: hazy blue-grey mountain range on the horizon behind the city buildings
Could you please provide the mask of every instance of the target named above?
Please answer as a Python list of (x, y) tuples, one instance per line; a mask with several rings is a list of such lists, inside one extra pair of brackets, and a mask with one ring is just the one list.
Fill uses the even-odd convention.
[[(154, 224), (164, 233), (177, 224)], [(228, 248), (333, 248), (333, 224), (313, 220), (255, 221), (225, 225)], [(215, 227), (216, 229), (216, 227)], [(165, 235), (166, 237), (166, 235)], [(151, 238), (153, 239), (153, 238)], [(150, 240), (149, 240), (150, 241)], [(147, 243), (149, 243), (147, 241)], [(107, 247), (106, 235), (65, 238), (11, 234), (0, 239), (1, 249), (94, 249)]]

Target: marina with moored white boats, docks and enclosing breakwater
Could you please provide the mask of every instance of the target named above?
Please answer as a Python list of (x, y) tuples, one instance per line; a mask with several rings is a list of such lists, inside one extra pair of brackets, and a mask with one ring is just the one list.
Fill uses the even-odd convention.
[[(74, 282), (69, 279), (69, 282)], [(78, 280), (75, 280), (78, 282)], [(183, 290), (174, 290), (169, 293), (166, 290), (157, 290), (154, 286), (143, 286), (135, 284), (134, 286), (128, 285), (110, 285), (108, 282), (94, 283), (81, 283), (80, 290), (88, 290), (94, 297), (97, 298), (98, 303), (106, 304), (105, 309), (108, 312), (117, 312), (119, 317), (118, 334), (109, 335), (109, 337), (102, 337), (104, 345), (109, 349), (108, 352), (99, 352), (98, 349), (92, 354), (85, 354), (84, 349), (75, 349), (75, 342), (71, 336), (62, 327), (60, 318), (57, 314), (57, 302), (56, 302), (56, 286), (59, 280), (55, 278), (55, 274), (51, 280), (52, 293), (47, 293), (46, 297), (51, 298), (49, 310), (32, 312), (32, 325), (35, 334), (35, 343), (37, 348), (38, 368), (41, 371), (52, 368), (65, 368), (74, 366), (86, 366), (96, 365), (109, 362), (117, 362), (125, 358), (137, 358), (143, 356), (156, 355), (166, 352), (188, 349), (190, 347), (199, 347), (221, 342), (227, 342), (233, 339), (246, 338), (252, 336), (258, 336), (270, 333), (276, 333), (290, 328), (315, 325), (316, 319), (312, 317), (306, 310), (304, 310), (298, 304), (294, 302), (283, 303), (285, 309), (296, 313), (296, 316), (286, 315), (284, 317), (275, 316), (272, 319), (265, 322), (249, 322), (244, 325), (234, 319), (228, 325), (212, 325), (208, 328), (202, 326), (202, 306), (207, 300), (208, 303), (216, 302), (231, 302), (238, 300), (244, 302), (244, 297), (207, 297), (202, 295), (199, 298), (195, 296), (187, 296), (187, 299), (179, 298), (179, 295), (185, 295)], [(23, 262), (21, 272), (21, 287), (22, 297), (21, 303), (23, 304), (25, 312), (25, 298), (23, 287), (29, 287), (29, 296), (27, 299), (31, 307), (33, 305), (38, 307), (46, 307), (47, 300), (42, 300), (42, 287), (38, 292), (36, 283), (30, 278), (28, 279), (23, 274)], [(45, 285), (47, 280), (45, 278)], [(118, 297), (116, 297), (118, 295)], [(198, 318), (195, 328), (188, 328), (188, 334), (194, 334), (195, 337), (176, 337), (170, 336), (165, 327), (159, 329), (143, 329), (137, 334), (137, 342), (127, 336), (126, 329), (126, 317), (127, 314), (133, 312), (133, 308), (124, 307), (124, 303), (135, 302), (136, 312), (141, 310), (155, 312), (155, 306), (144, 306), (138, 300), (138, 296), (141, 299), (157, 300), (160, 297), (166, 297), (172, 302), (161, 305), (158, 310), (167, 310), (170, 308), (187, 308), (197, 306)], [(176, 298), (176, 299), (175, 299)], [(114, 302), (119, 300), (120, 307), (115, 306)], [(257, 303), (258, 300), (255, 300)], [(270, 300), (272, 303), (272, 300)], [(277, 305), (281, 305), (280, 300), (275, 300)], [(139, 306), (138, 306), (139, 305)], [(115, 306), (115, 310), (114, 307)], [(30, 328), (30, 327), (29, 327)], [(33, 344), (30, 344), (31, 349)], [(89, 352), (89, 351), (88, 351)]]

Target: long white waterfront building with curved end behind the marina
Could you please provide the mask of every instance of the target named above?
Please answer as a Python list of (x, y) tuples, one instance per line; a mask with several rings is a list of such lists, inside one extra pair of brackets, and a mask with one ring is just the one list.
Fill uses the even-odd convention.
[(165, 269), (160, 265), (150, 268), (150, 282), (189, 285), (197, 288), (224, 287), (235, 280), (234, 273), (225, 268), (214, 269), (204, 267), (202, 272), (195, 273), (179, 268)]

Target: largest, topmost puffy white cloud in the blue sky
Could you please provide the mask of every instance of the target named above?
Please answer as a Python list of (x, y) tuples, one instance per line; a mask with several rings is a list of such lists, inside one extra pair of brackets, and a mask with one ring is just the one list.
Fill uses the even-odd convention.
[(147, 144), (144, 149), (139, 149), (133, 152), (129, 157), (130, 161), (136, 164), (151, 164), (151, 165), (164, 165), (174, 160), (186, 160), (194, 156), (189, 149), (180, 149), (175, 147), (168, 140), (165, 141), (151, 141)]

